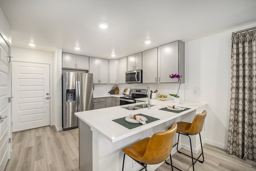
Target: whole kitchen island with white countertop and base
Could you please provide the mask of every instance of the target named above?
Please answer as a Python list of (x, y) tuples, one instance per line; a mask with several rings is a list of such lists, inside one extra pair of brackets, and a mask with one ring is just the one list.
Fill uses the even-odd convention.
[[(144, 102), (137, 104), (144, 104)], [(206, 109), (207, 105), (206, 103), (181, 101), (178, 106), (191, 109), (181, 113), (173, 113), (159, 109), (166, 107), (167, 104), (174, 104), (174, 101), (151, 99), (151, 104), (155, 106), (150, 109), (127, 110), (122, 108), (135, 105), (128, 104), (75, 113), (79, 118), (80, 171), (121, 171), (123, 157), (122, 148), (140, 139), (152, 136), (153, 133), (166, 130), (175, 122), (192, 122), (195, 114), (201, 113)], [(138, 113), (152, 116), (159, 120), (131, 130), (112, 121), (113, 119), (129, 116), (129, 114)], [(204, 143), (204, 130), (202, 130), (201, 136)], [(197, 153), (200, 150), (198, 137), (192, 136), (192, 143), (193, 152)], [(181, 136), (179, 143), (179, 148), (181, 147), (190, 149), (188, 141), (183, 138), (183, 136)], [(172, 150), (172, 154), (175, 152), (176, 148)], [(148, 171), (154, 171), (159, 166), (160, 164), (148, 165)], [(139, 169), (140, 165), (135, 164), (131, 158), (127, 157), (127, 159), (125, 159), (124, 171), (137, 171)]]

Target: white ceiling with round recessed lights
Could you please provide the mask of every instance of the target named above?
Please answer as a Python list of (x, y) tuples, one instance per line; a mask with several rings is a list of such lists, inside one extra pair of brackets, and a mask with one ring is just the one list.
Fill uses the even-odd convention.
[(0, 0), (0, 7), (12, 46), (109, 59), (256, 20), (256, 0)]

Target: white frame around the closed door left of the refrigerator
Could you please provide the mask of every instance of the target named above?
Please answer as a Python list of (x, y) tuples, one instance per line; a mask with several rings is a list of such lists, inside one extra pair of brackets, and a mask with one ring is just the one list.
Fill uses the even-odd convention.
[(53, 76), (53, 74), (52, 74), (52, 66), (53, 66), (53, 64), (51, 63), (39, 63), (39, 62), (27, 62), (27, 61), (14, 61), (14, 62), (26, 62), (26, 63), (34, 63), (34, 64), (48, 64), (49, 66), (50, 66), (50, 75), (49, 75), (49, 78), (50, 78), (50, 125), (52, 126), (53, 125), (53, 116), (52, 116), (52, 113), (53, 113), (53, 109), (52, 109), (52, 107), (53, 107), (53, 98), (52, 98), (52, 96), (53, 96), (53, 91), (52, 91), (52, 76)]

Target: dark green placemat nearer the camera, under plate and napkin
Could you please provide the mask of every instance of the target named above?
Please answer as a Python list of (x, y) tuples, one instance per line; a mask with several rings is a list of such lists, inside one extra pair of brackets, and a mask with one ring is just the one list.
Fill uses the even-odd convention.
[[(137, 115), (146, 117), (146, 118), (148, 119), (148, 120), (146, 121), (147, 124), (148, 124), (148, 123), (151, 123), (151, 122), (154, 122), (154, 121), (157, 121), (157, 120), (160, 120), (160, 119), (158, 119), (158, 118), (154, 118), (154, 117), (151, 117), (151, 116), (148, 116), (148, 115), (143, 115), (143, 114), (141, 114), (141, 113), (139, 113), (139, 114), (137, 114)], [(126, 118), (126, 117), (119, 118), (119, 119), (114, 119), (114, 120), (112, 120), (112, 121), (113, 121), (113, 122), (116, 122), (116, 123), (118, 123), (118, 124), (120, 124), (120, 125), (122, 125), (122, 126), (124, 126), (125, 128), (128, 128), (129, 130), (131, 130), (131, 129), (133, 129), (133, 128), (137, 128), (137, 127), (139, 127), (139, 126), (142, 126), (142, 124), (133, 124), (133, 123), (129, 123), (129, 122), (125, 121), (125, 118)]]

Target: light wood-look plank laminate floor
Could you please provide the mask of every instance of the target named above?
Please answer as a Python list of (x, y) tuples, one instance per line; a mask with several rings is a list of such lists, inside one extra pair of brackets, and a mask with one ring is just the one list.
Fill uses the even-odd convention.
[[(78, 139), (78, 129), (57, 132), (54, 126), (12, 133), (12, 159), (5, 171), (79, 171)], [(256, 162), (228, 155), (212, 145), (204, 145), (204, 156), (204, 163), (196, 163), (196, 171), (256, 171)], [(172, 159), (176, 167), (192, 171), (189, 157), (175, 153)], [(171, 171), (171, 167), (164, 163), (156, 171)]]

